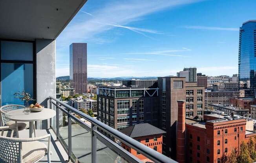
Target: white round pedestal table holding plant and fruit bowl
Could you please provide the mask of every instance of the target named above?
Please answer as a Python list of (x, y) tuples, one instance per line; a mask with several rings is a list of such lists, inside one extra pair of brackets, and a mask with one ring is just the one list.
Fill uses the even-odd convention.
[(35, 121), (47, 120), (56, 116), (56, 112), (53, 109), (44, 108), (40, 112), (30, 112), (29, 114), (24, 114), (24, 109), (16, 109), (5, 114), (5, 117), (9, 120), (20, 122), (29, 122), (29, 138), (33, 137), (34, 123)]

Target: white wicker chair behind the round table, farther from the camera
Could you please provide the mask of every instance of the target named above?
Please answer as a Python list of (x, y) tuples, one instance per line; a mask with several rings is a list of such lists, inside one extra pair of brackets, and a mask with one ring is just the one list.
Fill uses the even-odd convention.
[[(15, 122), (15, 121), (10, 121), (7, 118), (5, 118), (5, 114), (7, 112), (10, 112), (12, 110), (16, 109), (24, 109), (25, 106), (23, 105), (4, 105), (0, 107), (0, 114), (1, 114), (1, 120), (2, 120), (2, 126), (9, 126), (9, 129), (15, 130), (16, 131), (16, 137), (19, 137), (18, 131), (19, 130), (24, 130), (29, 128), (29, 122)], [(35, 123), (34, 123), (34, 134), (36, 137), (36, 132), (35, 132)]]

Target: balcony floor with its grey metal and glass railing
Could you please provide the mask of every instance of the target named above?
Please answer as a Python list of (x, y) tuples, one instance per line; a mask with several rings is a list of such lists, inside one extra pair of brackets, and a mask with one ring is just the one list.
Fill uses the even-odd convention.
[[(52, 162), (142, 163), (116, 143), (117, 141), (114, 142), (105, 135), (126, 143), (155, 163), (176, 162), (56, 98), (49, 97), (48, 104), (48, 108), (56, 110), (56, 116), (50, 120), (49, 129), (36, 130), (36, 134), (51, 134)], [(86, 122), (81, 121), (75, 114), (84, 118)], [(20, 131), (19, 135), (20, 138), (27, 138), (28, 130)], [(15, 136), (15, 132), (6, 130), (4, 136)], [(46, 161), (47, 157), (40, 162)]]

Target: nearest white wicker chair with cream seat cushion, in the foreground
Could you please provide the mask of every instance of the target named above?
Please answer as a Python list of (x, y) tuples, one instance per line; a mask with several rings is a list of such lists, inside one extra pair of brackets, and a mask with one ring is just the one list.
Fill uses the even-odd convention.
[[(8, 129), (0, 127), (0, 130)], [(48, 146), (38, 141), (48, 138)], [(50, 152), (51, 135), (37, 138), (9, 138), (0, 136), (0, 163), (35, 163), (47, 155), (51, 163)]]

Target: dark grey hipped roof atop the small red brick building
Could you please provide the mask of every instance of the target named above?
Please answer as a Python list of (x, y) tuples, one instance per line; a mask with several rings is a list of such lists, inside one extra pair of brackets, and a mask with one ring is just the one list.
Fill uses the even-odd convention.
[(164, 130), (150, 125), (149, 123), (135, 124), (123, 130), (120, 130), (120, 132), (126, 134), (127, 136), (130, 136), (131, 138), (166, 133)]

